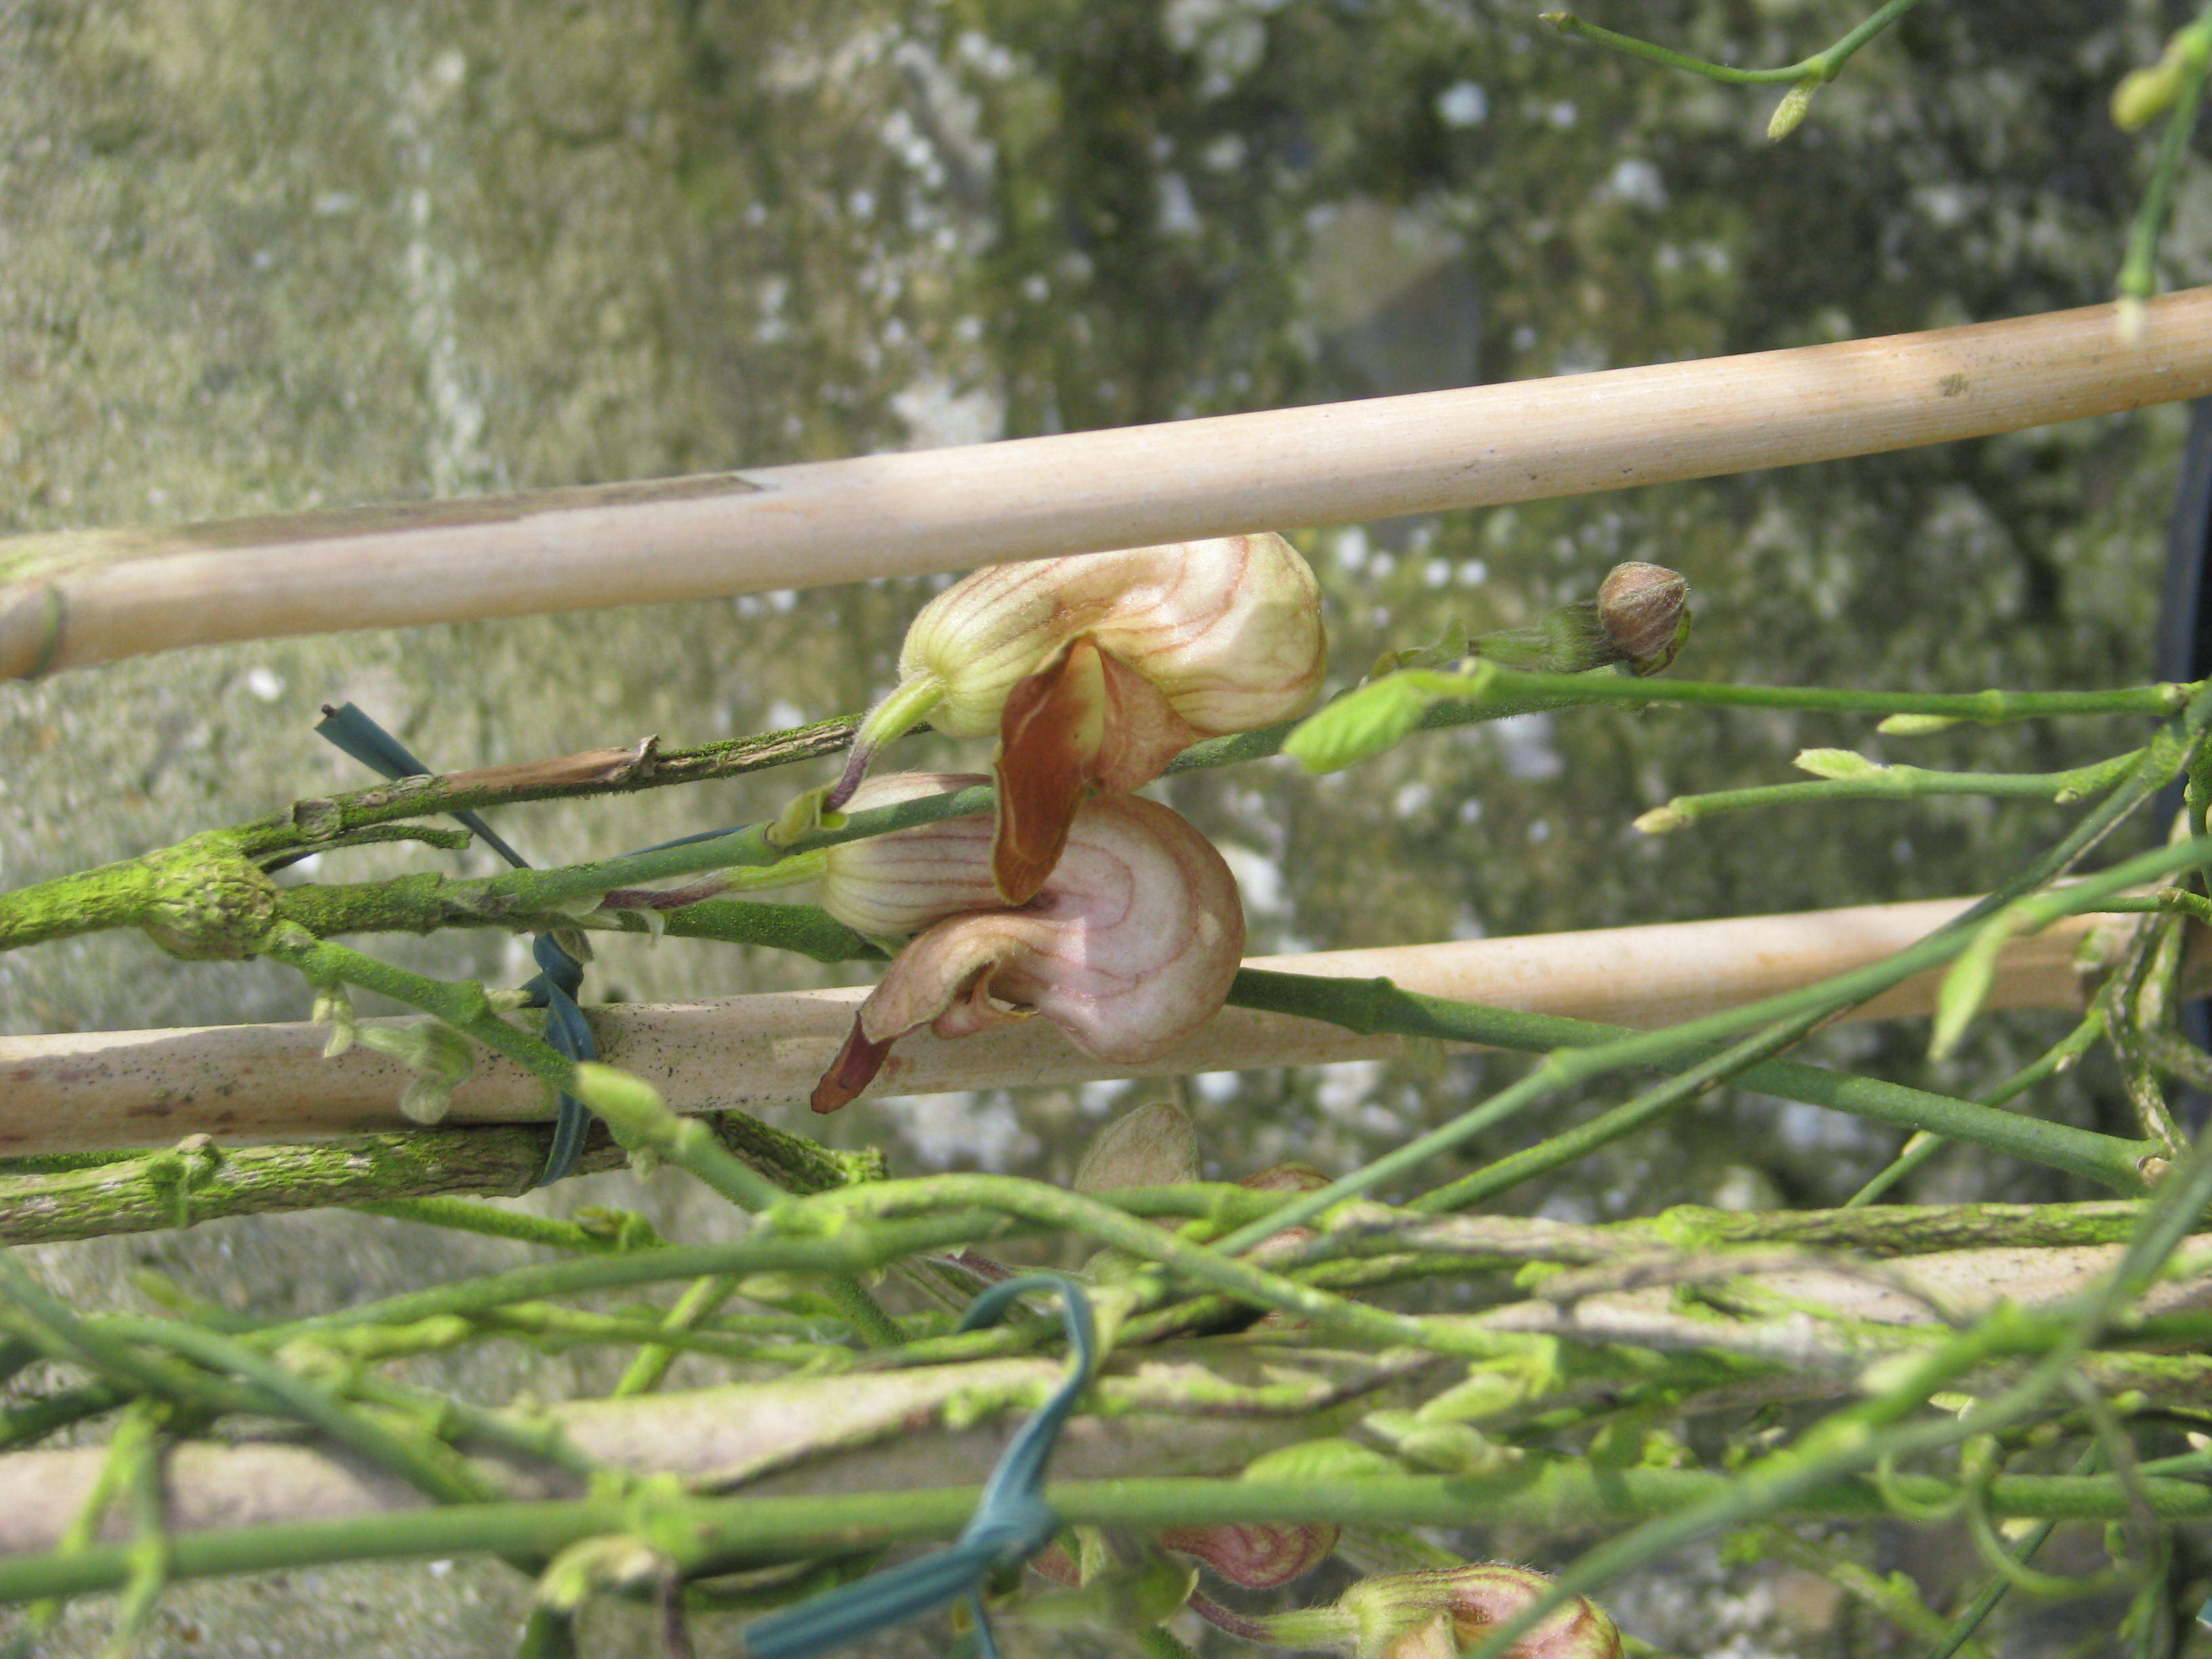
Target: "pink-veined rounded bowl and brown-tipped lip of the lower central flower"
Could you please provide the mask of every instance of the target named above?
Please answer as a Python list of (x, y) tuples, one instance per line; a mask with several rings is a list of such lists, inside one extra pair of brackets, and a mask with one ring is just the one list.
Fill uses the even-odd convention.
[(918, 1026), (967, 1037), (1044, 1015), (1086, 1055), (1137, 1064), (1203, 1026), (1243, 958), (1243, 905), (1212, 843), (1139, 796), (1091, 801), (1026, 905), (949, 916), (914, 938), (814, 1086), (834, 1113)]

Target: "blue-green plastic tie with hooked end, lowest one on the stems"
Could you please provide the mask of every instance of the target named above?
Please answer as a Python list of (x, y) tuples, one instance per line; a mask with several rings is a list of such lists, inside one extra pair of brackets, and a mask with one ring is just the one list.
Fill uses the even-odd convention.
[(1015, 1296), (1033, 1290), (1060, 1292), (1060, 1316), (1068, 1332), (1068, 1380), (1024, 1422), (991, 1480), (975, 1513), (951, 1548), (872, 1573), (858, 1584), (816, 1595), (783, 1613), (754, 1619), (743, 1630), (748, 1659), (814, 1659), (814, 1655), (865, 1641), (878, 1630), (918, 1619), (967, 1597), (975, 1610), (975, 1637), (989, 1659), (998, 1641), (982, 1606), (982, 1586), (1006, 1568), (1022, 1566), (1060, 1535), (1060, 1515), (1044, 1502), (1044, 1467), (1060, 1442), (1068, 1413), (1097, 1371), (1097, 1321), (1084, 1287), (1062, 1274), (1022, 1274), (991, 1285), (960, 1318), (960, 1329), (995, 1325)]

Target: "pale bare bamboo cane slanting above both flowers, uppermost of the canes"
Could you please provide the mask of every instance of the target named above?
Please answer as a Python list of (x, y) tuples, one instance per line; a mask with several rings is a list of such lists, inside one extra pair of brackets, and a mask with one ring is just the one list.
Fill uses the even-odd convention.
[(2212, 392), (2212, 290), (1785, 352), (493, 500), (0, 542), (0, 679), (1582, 495)]

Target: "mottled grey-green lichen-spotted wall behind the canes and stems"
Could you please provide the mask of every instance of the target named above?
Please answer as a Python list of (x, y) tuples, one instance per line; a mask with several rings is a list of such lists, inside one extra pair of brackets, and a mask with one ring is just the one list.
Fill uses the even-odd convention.
[[(1765, 146), (1765, 93), (1599, 58), (1473, 0), (0, 0), (0, 529), (770, 465), (2086, 303), (2108, 292), (2143, 161), (2101, 100), (2179, 15), (2095, 13), (1929, 7)], [(1851, 15), (1668, 0), (1613, 20), (1785, 60)], [(2172, 281), (2212, 276), (2208, 226), (2199, 168)], [(1701, 591), (1679, 672), (2108, 684), (2148, 672), (2177, 434), (2161, 411), (1307, 544), (1343, 675), (1453, 615), (1517, 622), (1652, 557)], [(274, 641), (0, 686), (0, 880), (341, 787), (358, 772), (307, 730), (325, 699), (447, 768), (856, 708), (920, 593)], [(1192, 779), (1170, 799), (1232, 847), (1256, 949), (1962, 891), (2059, 825), (1958, 803), (1626, 830), (1668, 794), (1781, 779), (1798, 745), (1860, 739), (1840, 721), (1599, 712), (1318, 783)], [(2059, 765), (2124, 743), (2051, 728), (1911, 754)], [(531, 807), (502, 830), (555, 860), (734, 823), (785, 787)], [(343, 874), (420, 865), (343, 858)], [(526, 973), (487, 938), (376, 949)], [(812, 964), (697, 945), (617, 945), (593, 975), (628, 998), (810, 982)], [(0, 960), (9, 1031), (303, 1011), (285, 973), (186, 967), (137, 938)], [(1940, 1082), (2037, 1035), (2000, 1024)], [(1909, 1071), (1916, 1044), (1858, 1035), (1845, 1053)], [(1239, 1148), (1230, 1172), (1292, 1155), (1343, 1168), (1498, 1075), (1431, 1055), (1210, 1077), (1197, 1102)], [(838, 1130), (889, 1137), (902, 1168), (1064, 1175), (1110, 1097), (929, 1102)], [(2095, 1084), (2042, 1106), (2110, 1110)], [(1887, 1148), (1723, 1099), (1670, 1144), (1632, 1141), (1520, 1201), (1812, 1201)], [(666, 1179), (641, 1197), (628, 1177), (575, 1188), (544, 1201), (613, 1192), (668, 1228), (719, 1223)], [(1920, 1190), (2055, 1188), (1953, 1159)], [(128, 1296), (122, 1270), (153, 1263), (252, 1307), (502, 1259), (345, 1217), (40, 1256), (88, 1301)], [(606, 1367), (489, 1354), (447, 1374), (500, 1398), (599, 1387)], [(199, 1652), (478, 1655), (502, 1650), (515, 1590), (500, 1568), (347, 1571), (175, 1606), (159, 1652), (197, 1628)], [(1650, 1601), (1683, 1628), (1723, 1615)], [(1849, 1646), (1818, 1619), (1803, 1639)]]

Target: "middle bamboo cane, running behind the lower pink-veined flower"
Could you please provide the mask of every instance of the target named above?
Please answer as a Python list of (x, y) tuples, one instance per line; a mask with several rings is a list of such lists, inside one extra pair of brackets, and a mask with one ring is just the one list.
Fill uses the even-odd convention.
[[(1584, 933), (1400, 945), (1254, 958), (1250, 967), (1389, 978), (1425, 995), (1659, 1026), (1792, 991), (1882, 960), (1971, 900), (1860, 905), (1794, 916), (1613, 927)], [(2073, 918), (2006, 947), (1991, 1006), (2079, 1004), (2075, 947), (2095, 918)], [(1907, 980), (1854, 1013), (1933, 1009), (1933, 978)], [(834, 1057), (865, 989), (783, 991), (717, 1002), (593, 1009), (599, 1053), (650, 1079), (684, 1110), (805, 1099)], [(0, 1037), (0, 1155), (219, 1141), (314, 1139), (405, 1128), (396, 1060), (354, 1048), (323, 1060), (307, 1024), (188, 1026)], [(891, 1051), (869, 1097), (1079, 1084), (1256, 1066), (1387, 1060), (1402, 1037), (1374, 1037), (1290, 1015), (1223, 1009), (1197, 1037), (1148, 1064), (1115, 1066), (1031, 1020), (960, 1042), (914, 1033)], [(451, 1121), (546, 1117), (544, 1091), (489, 1055), (453, 1095)]]

